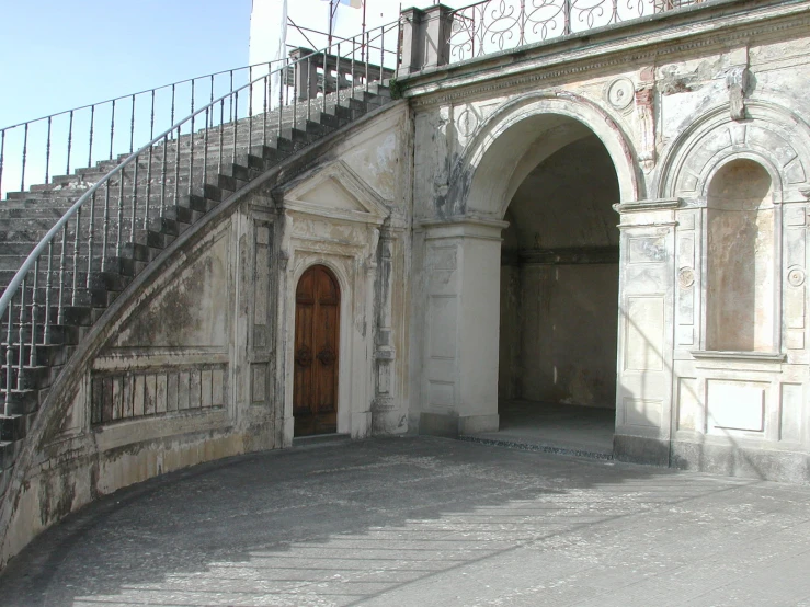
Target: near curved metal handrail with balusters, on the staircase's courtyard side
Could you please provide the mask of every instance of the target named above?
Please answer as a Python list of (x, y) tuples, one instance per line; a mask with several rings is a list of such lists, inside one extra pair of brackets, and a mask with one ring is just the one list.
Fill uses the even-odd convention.
[[(312, 106), (316, 105), (315, 110), (316, 112), (326, 112), (327, 111), (327, 101), (329, 98), (329, 94), (331, 92), (335, 93), (335, 102), (339, 102), (340, 95), (341, 95), (341, 85), (342, 85), (342, 78), (343, 81), (346, 82), (344, 87), (351, 88), (352, 90), (356, 90), (356, 88), (363, 87), (366, 92), (369, 91), (369, 79), (376, 78), (380, 81), (384, 80), (384, 78), (389, 77), (396, 72), (396, 65), (392, 68), (385, 68), (385, 34), (386, 31), (390, 32), (393, 27), (399, 27), (399, 20), (386, 25), (383, 25), (378, 28), (378, 34), (372, 38), (372, 32), (367, 32), (365, 35), (364, 43), (367, 45), (374, 39), (379, 39), (379, 48), (383, 49), (380, 53), (380, 64), (372, 65), (368, 54), (366, 54), (365, 60), (363, 62), (357, 61), (355, 57), (357, 44), (355, 39), (352, 39), (352, 49), (351, 49), (351, 56), (343, 57), (341, 53), (341, 45), (345, 43), (338, 42), (336, 44), (332, 44), (330, 46), (327, 46), (320, 50), (310, 53), (309, 55), (306, 55), (304, 57), (292, 59), (292, 58), (285, 58), (284, 64), (276, 68), (275, 70), (269, 70), (267, 73), (262, 73), (258, 78), (254, 78), (250, 80), (247, 84), (243, 84), (238, 88), (232, 88), (227, 93), (216, 98), (215, 100), (209, 101), (207, 104), (203, 105), (202, 107), (198, 107), (195, 111), (192, 111), (187, 116), (182, 118), (181, 121), (173, 122), (172, 125), (162, 130), (158, 136), (155, 136), (152, 133), (152, 137), (149, 138), (149, 141), (139, 147), (137, 150), (130, 150), (130, 153), (121, 162), (118, 162), (113, 169), (109, 170), (96, 183), (92, 184), (79, 198), (70, 205), (67, 211), (62, 214), (62, 216), (56, 221), (56, 224), (47, 231), (47, 233), (39, 240), (39, 242), (34, 247), (34, 249), (31, 251), (31, 253), (26, 256), (25, 261), (21, 265), (21, 267), (16, 271), (13, 278), (7, 286), (7, 288), (3, 290), (2, 295), (0, 296), (0, 328), (2, 328), (3, 319), (7, 319), (5, 322), (5, 335), (2, 335), (2, 337), (5, 337), (5, 360), (3, 362), (2, 358), (0, 358), (0, 369), (2, 369), (5, 374), (5, 408), (4, 412), (9, 414), (10, 412), (10, 393), (13, 390), (13, 371), (18, 371), (16, 377), (16, 389), (21, 389), (21, 375), (25, 367), (32, 367), (36, 364), (36, 348), (39, 345), (47, 345), (49, 343), (49, 336), (48, 336), (48, 328), (50, 327), (52, 322), (52, 308), (57, 309), (57, 319), (56, 324), (61, 324), (62, 322), (62, 311), (65, 307), (68, 306), (76, 306), (77, 305), (77, 295), (80, 291), (89, 290), (91, 285), (91, 272), (93, 271), (93, 263), (95, 261), (95, 240), (101, 239), (101, 261), (99, 262), (101, 270), (105, 270), (105, 263), (107, 259), (107, 253), (110, 252), (111, 248), (114, 245), (115, 248), (115, 256), (121, 255), (121, 249), (122, 243), (126, 244), (126, 242), (123, 242), (124, 238), (124, 198), (127, 194), (125, 194), (124, 191), (124, 181), (126, 179), (126, 170), (133, 167), (134, 170), (134, 176), (132, 179), (132, 209), (127, 209), (130, 219), (129, 225), (129, 236), (132, 237), (132, 240), (135, 240), (135, 232), (137, 229), (140, 229), (140, 226), (142, 225), (144, 228), (147, 228), (149, 225), (150, 219), (155, 219), (157, 217), (162, 217), (164, 209), (166, 209), (166, 185), (167, 185), (167, 168), (168, 168), (168, 156), (170, 154), (170, 141), (174, 145), (174, 161), (173, 161), (173, 171), (174, 171), (174, 193), (173, 198), (174, 203), (178, 202), (179, 196), (179, 190), (180, 190), (180, 167), (181, 167), (181, 156), (180, 156), (180, 148), (183, 140), (181, 138), (187, 137), (185, 139), (185, 142), (189, 145), (190, 153), (187, 158), (187, 169), (189, 169), (189, 184), (187, 184), (187, 192), (191, 195), (192, 188), (193, 188), (193, 181), (194, 181), (194, 161), (195, 161), (195, 151), (194, 151), (194, 140), (195, 135), (199, 135), (202, 133), (204, 138), (204, 144), (202, 148), (202, 163), (197, 167), (197, 172), (202, 172), (203, 176), (203, 184), (207, 181), (207, 171), (208, 171), (208, 138), (210, 131), (218, 131), (218, 144), (216, 146), (216, 150), (218, 153), (218, 159), (212, 159), (212, 164), (214, 161), (217, 162), (217, 173), (221, 172), (223, 168), (223, 154), (224, 154), (224, 146), (226, 145), (225, 140), (225, 126), (227, 124), (229, 135), (232, 131), (232, 135), (230, 135), (230, 140), (232, 141), (232, 150), (230, 150), (231, 154), (231, 162), (236, 163), (237, 159), (237, 148), (239, 146), (238, 142), (238, 134), (240, 128), (247, 128), (248, 129), (248, 153), (250, 153), (250, 150), (253, 146), (253, 137), (254, 137), (254, 125), (255, 125), (255, 117), (261, 117), (261, 142), (262, 145), (266, 145), (267, 142), (267, 119), (272, 110), (272, 105), (275, 101), (277, 101), (276, 110), (274, 111), (277, 116), (274, 116), (274, 119), (276, 121), (276, 125), (271, 125), (272, 129), (276, 129), (275, 134), (276, 137), (282, 137), (282, 131), (285, 128), (285, 126), (289, 126), (289, 123), (285, 123), (285, 111), (289, 112), (290, 114), (287, 116), (287, 121), (292, 118), (292, 125), (295, 127), (299, 124), (300, 119), (309, 121), (311, 113), (312, 113)], [(377, 30), (377, 28), (375, 28)], [(397, 36), (397, 43), (399, 41), (399, 36)], [(345, 48), (345, 47), (344, 47)], [(333, 50), (336, 50), (336, 54), (333, 53)], [(335, 60), (335, 57), (338, 60)], [(397, 54), (398, 59), (398, 54)], [(312, 85), (313, 82), (318, 82), (318, 68), (321, 68), (322, 70), (322, 96), (313, 96), (312, 93)], [(334, 77), (330, 76), (330, 71), (334, 71)], [(289, 85), (289, 75), (293, 73), (293, 84)], [(306, 80), (304, 80), (304, 77), (306, 76)], [(351, 81), (347, 80), (347, 77), (351, 76)], [(273, 90), (272, 80), (275, 77), (279, 77), (278, 84), (277, 84), (277, 91)], [(315, 80), (313, 80), (315, 78)], [(329, 90), (330, 80), (333, 78), (334, 81), (334, 89), (332, 91)], [(301, 88), (299, 90), (299, 81), (301, 83)], [(304, 84), (306, 84), (306, 91), (304, 88)], [(317, 87), (317, 84), (316, 84)], [(260, 89), (259, 89), (260, 88)], [(259, 89), (259, 91), (256, 91)], [(239, 117), (239, 107), (240, 107), (240, 93), (242, 94), (242, 99), (244, 99), (244, 94), (248, 95), (247, 98), (247, 105), (248, 105), (248, 113), (247, 116)], [(256, 96), (256, 93), (259, 95)], [(292, 93), (292, 101), (289, 99)], [(271, 95), (277, 95), (277, 99), (271, 99)], [(229, 119), (227, 123), (225, 121), (225, 103), (230, 103), (232, 101), (232, 115), (230, 116), (232, 119)], [(254, 101), (261, 104), (261, 112), (256, 113), (254, 115), (253, 113), (253, 104)], [(220, 122), (218, 125), (214, 126), (215, 122), (215, 112), (217, 106), (219, 106), (220, 112)], [(299, 114), (300, 112), (300, 114)], [(205, 125), (205, 128), (202, 129), (202, 131), (195, 130), (195, 121), (201, 118), (205, 115), (205, 122), (202, 123)], [(242, 124), (241, 122), (249, 121), (249, 124)], [(202, 122), (202, 119), (201, 119)], [(187, 133), (183, 133), (183, 129), (187, 128)], [(176, 136), (176, 137), (175, 137)], [(171, 139), (172, 137), (175, 137), (174, 139)], [(260, 142), (259, 136), (256, 136), (256, 144)], [(156, 151), (160, 152), (162, 150), (162, 158), (159, 161), (160, 169), (161, 169), (161, 179), (159, 182), (159, 187), (161, 190), (160, 192), (160, 207), (159, 207), (159, 215), (150, 215), (152, 210), (156, 210), (153, 207), (150, 206), (150, 195), (151, 195), (151, 174), (152, 174), (152, 165), (153, 165), (153, 157)], [(147, 162), (147, 171), (148, 176), (146, 180), (146, 196), (142, 201), (142, 209), (138, 208), (138, 170), (139, 170), (139, 163), (135, 162), (136, 159), (142, 159), (144, 162)], [(199, 161), (199, 159), (197, 158)], [(116, 176), (119, 176), (117, 180), (117, 184), (113, 184), (112, 180)], [(197, 175), (198, 176), (198, 175)], [(117, 185), (118, 192), (117, 192), (117, 199), (113, 201), (112, 198), (112, 190)], [(158, 186), (156, 186), (158, 187)], [(98, 226), (95, 224), (96, 219), (96, 197), (100, 194), (100, 192), (104, 193), (104, 209), (103, 209), (103, 227), (101, 229), (98, 229)], [(111, 202), (115, 203), (117, 202), (117, 226), (113, 227), (113, 231), (116, 232), (115, 236), (115, 242), (111, 244), (109, 240), (110, 236), (110, 213), (111, 213)], [(80, 233), (82, 232), (83, 225), (82, 225), (82, 209), (88, 207), (89, 204), (89, 214), (85, 216), (87, 218), (87, 228), (89, 229), (88, 232), (88, 241), (80, 240)], [(138, 211), (140, 211), (140, 215), (138, 215)], [(68, 230), (71, 226), (75, 226), (73, 232), (70, 234), (72, 237), (72, 267), (68, 270), (68, 265), (70, 265), (70, 261), (67, 259), (67, 241), (68, 241)], [(61, 237), (60, 237), (61, 234)], [(56, 272), (58, 272), (59, 275), (59, 284), (58, 284), (58, 297), (55, 302), (55, 306), (52, 306), (52, 274), (53, 274), (53, 262), (54, 262), (54, 248), (55, 245), (60, 245), (60, 253), (59, 253), (59, 260), (58, 260), (58, 268)], [(82, 245), (87, 247), (87, 265), (81, 264), (79, 261), (79, 250)], [(39, 278), (39, 264), (45, 259), (47, 261), (47, 274), (46, 274), (46, 286), (45, 288), (45, 301), (42, 302), (38, 300), (37, 295), (37, 280)], [(83, 271), (83, 268), (87, 270), (87, 278), (85, 282), (82, 285), (79, 285), (78, 282), (78, 274), (79, 272)], [(66, 272), (72, 272), (72, 285), (66, 285)], [(33, 274), (32, 274), (33, 273)], [(32, 300), (31, 302), (26, 302), (26, 280), (31, 277), (33, 282), (33, 293), (32, 293)], [(39, 287), (42, 288), (42, 287)], [(67, 297), (65, 297), (65, 291), (67, 290)], [(14, 309), (15, 298), (19, 297), (19, 317), (18, 317), (18, 324), (19, 324), (19, 335), (14, 335)], [(67, 301), (67, 302), (66, 302)], [(41, 322), (41, 319), (38, 318), (38, 314), (41, 312), (41, 308), (45, 308), (45, 319)], [(25, 329), (31, 328), (31, 336), (25, 337)], [(37, 329), (43, 329), (44, 334), (42, 337), (37, 336)], [(28, 343), (30, 342), (30, 343)], [(30, 352), (27, 354), (24, 354), (24, 351), (26, 347), (30, 347)], [(14, 348), (19, 348), (18, 359), (14, 360)]]

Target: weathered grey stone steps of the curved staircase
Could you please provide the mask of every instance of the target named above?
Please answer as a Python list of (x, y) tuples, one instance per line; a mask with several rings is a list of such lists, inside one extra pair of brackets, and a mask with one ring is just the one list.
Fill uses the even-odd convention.
[[(310, 107), (309, 119), (307, 102), (296, 108), (295, 123), (284, 107), (281, 130), (277, 111), (195, 130), (153, 146), (96, 191), (82, 207), (84, 218), (69, 221), (52, 241), (11, 314), (0, 319), (0, 495), (52, 385), (135, 276), (250, 181), (390, 99), (375, 83), (330, 93), (326, 103), (313, 100), (318, 110)], [(267, 124), (275, 126), (272, 134)], [(126, 157), (54, 176), (0, 202), (0, 293), (59, 218)], [(135, 226), (134, 204), (141, 209)]]

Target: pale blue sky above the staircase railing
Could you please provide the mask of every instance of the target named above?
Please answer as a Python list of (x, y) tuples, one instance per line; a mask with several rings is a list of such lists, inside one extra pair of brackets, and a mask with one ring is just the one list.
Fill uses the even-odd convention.
[[(326, 3), (290, 0), (290, 14), (312, 1), (322, 28)], [(369, 13), (399, 7), (368, 2)], [(351, 27), (360, 11), (342, 10), (357, 13)], [(0, 0), (0, 126), (247, 65), (250, 11), (251, 0)]]

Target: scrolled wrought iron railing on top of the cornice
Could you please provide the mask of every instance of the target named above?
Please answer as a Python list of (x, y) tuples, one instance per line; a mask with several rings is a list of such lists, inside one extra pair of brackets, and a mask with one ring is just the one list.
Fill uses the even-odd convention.
[(452, 12), (450, 62), (697, 4), (701, 0), (484, 0)]

